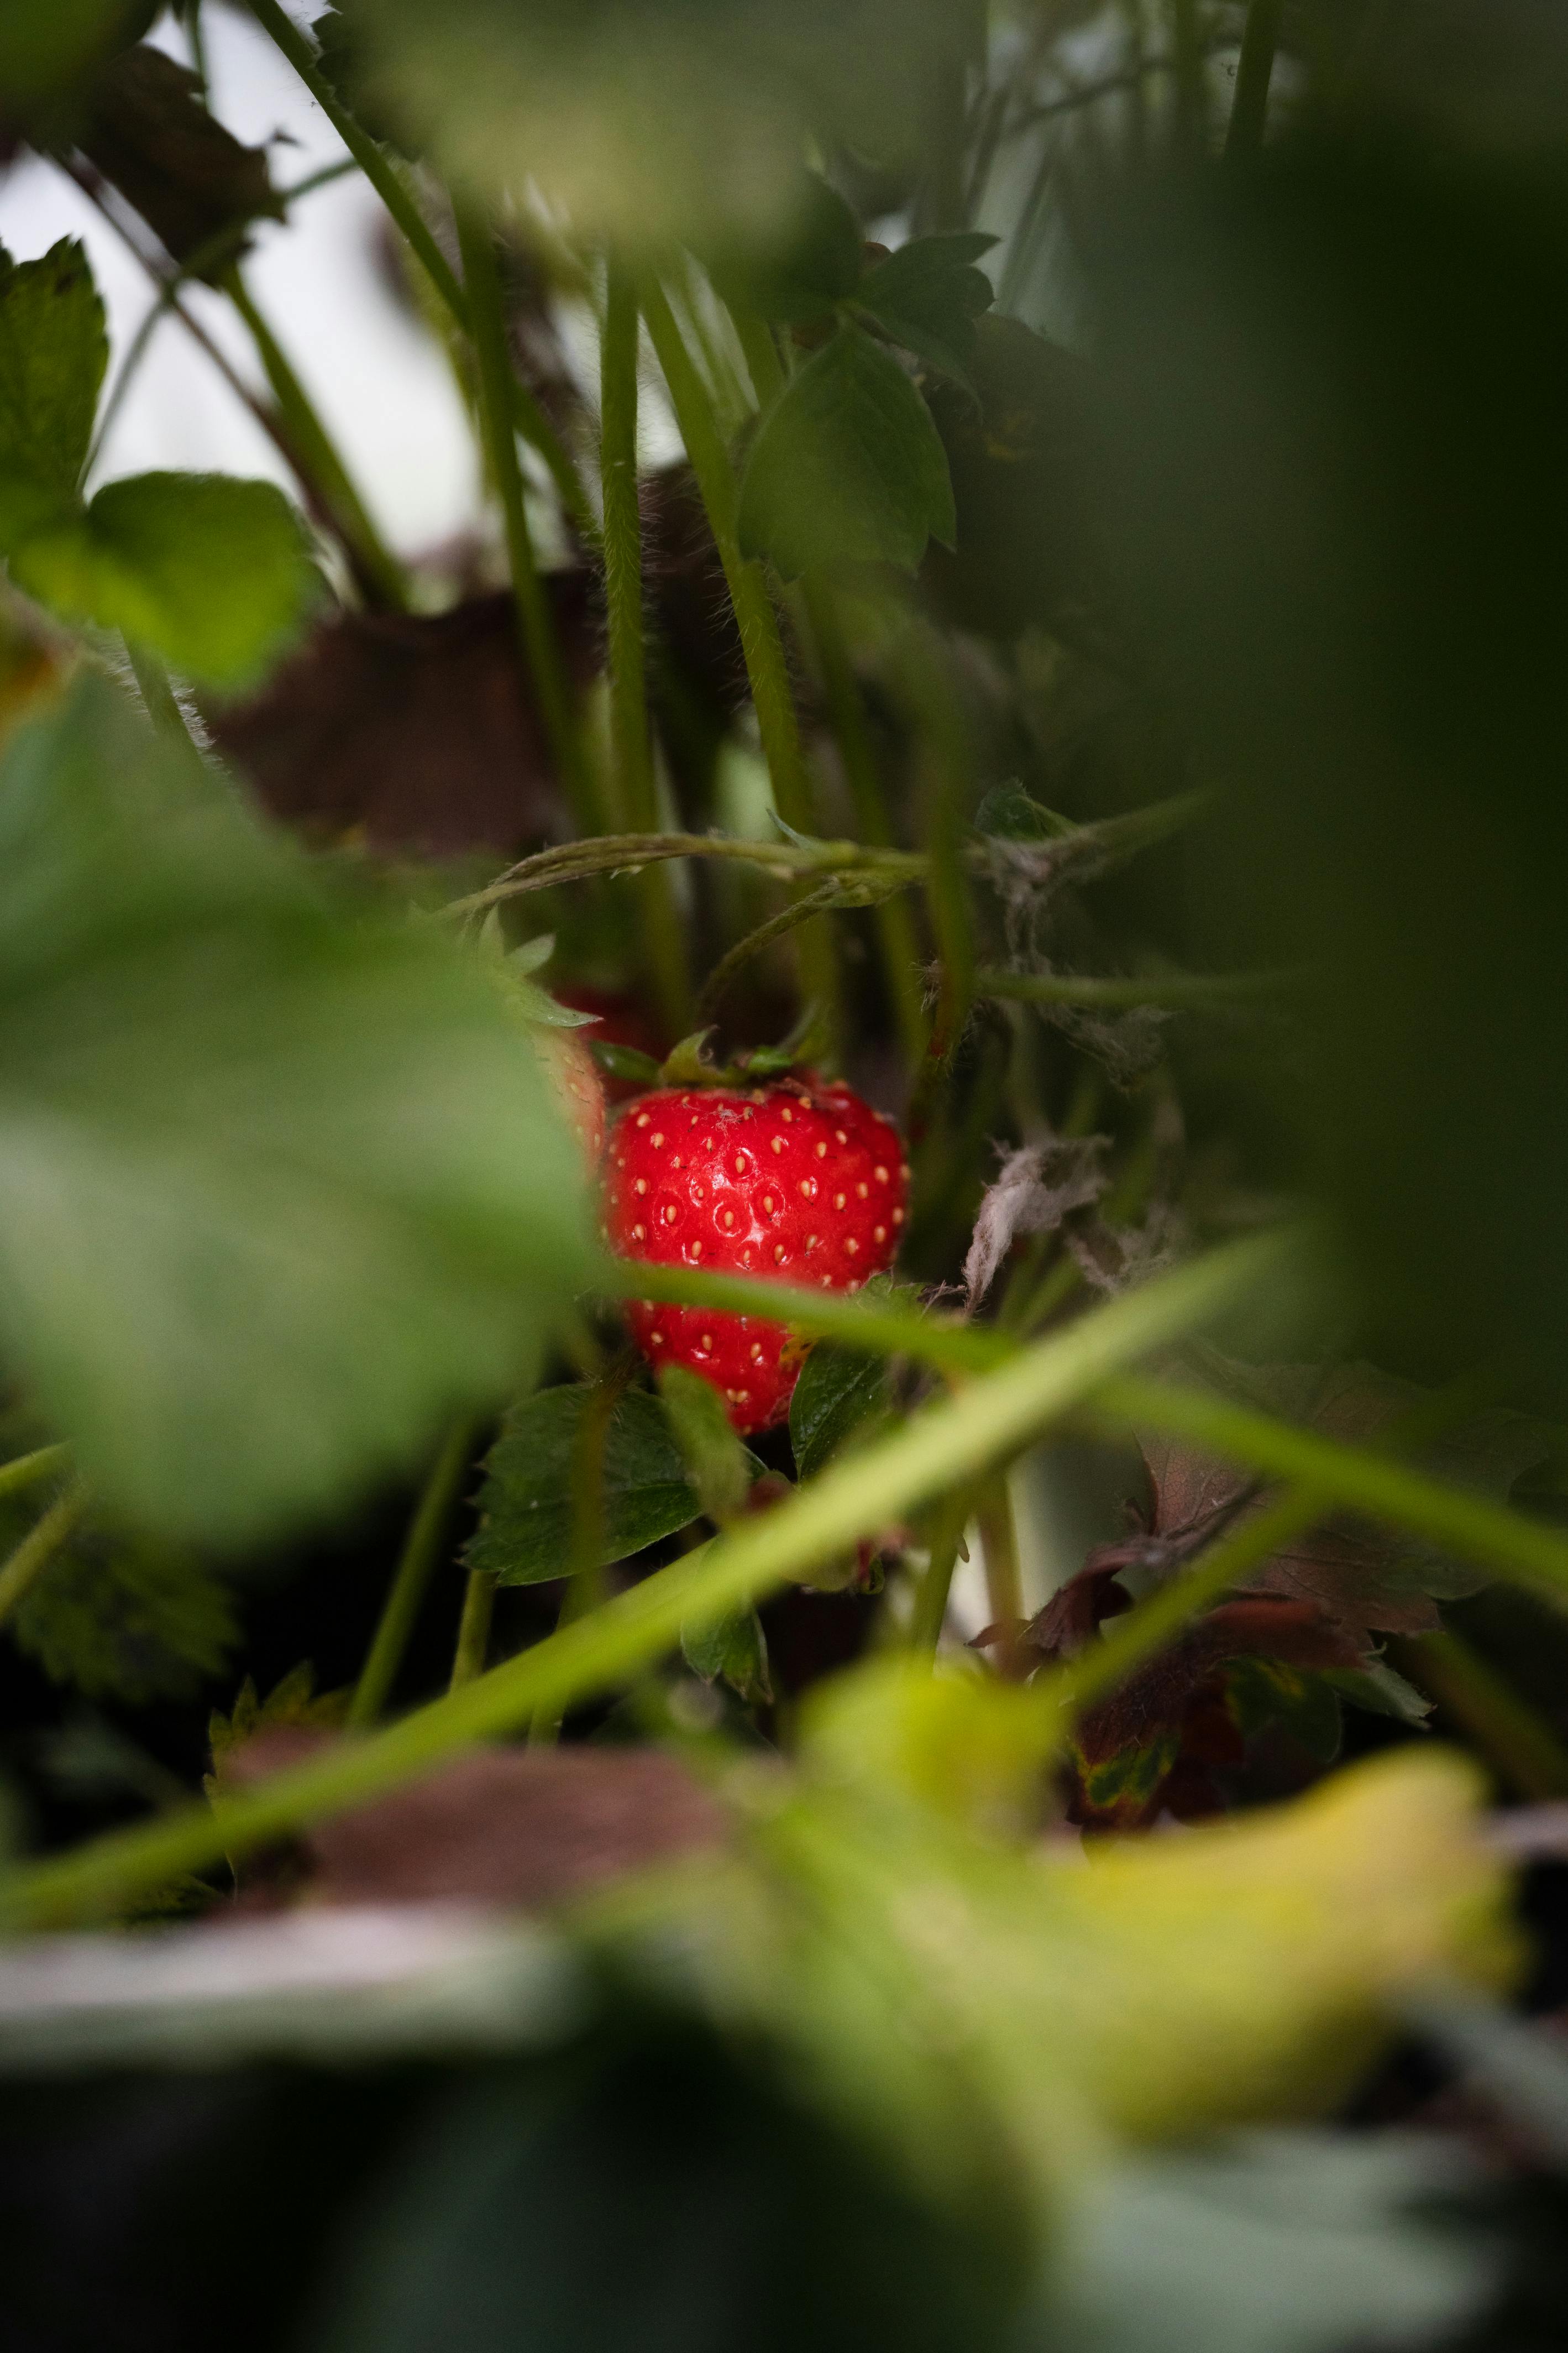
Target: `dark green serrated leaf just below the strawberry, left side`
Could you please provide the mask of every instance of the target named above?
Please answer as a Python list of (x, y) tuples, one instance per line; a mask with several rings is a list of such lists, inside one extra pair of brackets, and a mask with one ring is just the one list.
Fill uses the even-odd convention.
[[(468, 1567), (503, 1586), (534, 1586), (571, 1567), (571, 1459), (588, 1384), (543, 1388), (515, 1405), (484, 1464), (480, 1529)], [(748, 1457), (748, 1478), (762, 1464)], [(602, 1562), (630, 1560), (644, 1544), (672, 1537), (703, 1504), (658, 1398), (628, 1388), (604, 1438)]]

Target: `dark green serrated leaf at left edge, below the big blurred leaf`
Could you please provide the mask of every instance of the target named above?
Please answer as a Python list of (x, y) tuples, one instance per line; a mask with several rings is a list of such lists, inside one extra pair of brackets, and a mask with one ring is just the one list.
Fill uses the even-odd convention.
[(240, 1640), (228, 1586), (167, 1544), (87, 1529), (49, 1562), (12, 1633), (89, 1699), (186, 1699)]

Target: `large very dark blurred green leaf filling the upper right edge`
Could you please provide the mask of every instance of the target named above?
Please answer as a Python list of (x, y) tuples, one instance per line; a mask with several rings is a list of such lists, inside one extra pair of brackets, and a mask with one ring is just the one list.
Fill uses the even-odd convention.
[(1373, 1313), (1561, 1391), (1568, 186), (1528, 96), (1481, 129), (1458, 92), (1441, 144), (1385, 92), (1128, 202), (1103, 480), (1140, 661), (1227, 788), (1204, 953), (1316, 976), (1276, 1111)]

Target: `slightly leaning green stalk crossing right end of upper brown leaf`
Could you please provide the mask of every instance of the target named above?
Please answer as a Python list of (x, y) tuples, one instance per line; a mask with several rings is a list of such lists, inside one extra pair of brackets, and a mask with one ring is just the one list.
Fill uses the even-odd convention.
[(512, 405), (508, 386), (512, 362), (505, 348), (505, 311), (501, 304), (501, 271), (496, 247), (484, 214), (456, 207), (458, 249), (463, 254), (463, 282), (468, 287), (468, 311), (473, 320), (473, 348), (480, 369), (480, 428), (484, 456), (489, 459), (501, 518), (505, 522), (505, 555), (512, 574), (512, 602), (517, 607), (517, 635), (534, 682), (534, 699), (545, 727), (550, 755), (567, 788), (567, 800), (585, 833), (595, 831), (597, 809), (588, 762), (583, 758), (583, 732), (574, 711), (571, 680), (562, 661), (559, 638), (545, 584), (534, 562), (534, 536), (529, 532), (529, 508), (522, 492), (522, 466), (517, 461), (517, 433), (512, 428)]

